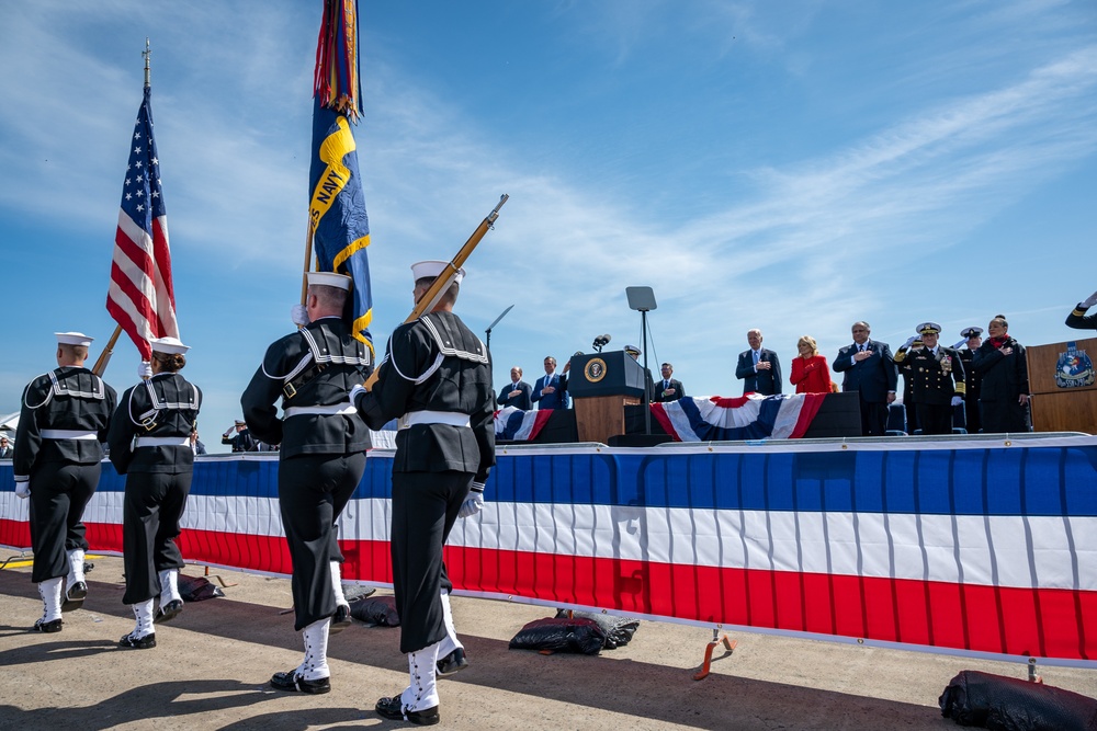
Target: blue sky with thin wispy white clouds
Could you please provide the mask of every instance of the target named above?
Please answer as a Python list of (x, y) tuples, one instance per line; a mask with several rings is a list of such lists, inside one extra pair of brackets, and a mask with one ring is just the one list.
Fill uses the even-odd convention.
[[(183, 374), (214, 446), (299, 297), (320, 2), (73, 5), (0, 7), (0, 413), (54, 331), (94, 356), (114, 329), (149, 36)], [(833, 359), (860, 319), (894, 349), (1002, 312), (1033, 345), (1076, 336), (1063, 319), (1097, 288), (1092, 1), (364, 0), (360, 22), (380, 349), (409, 264), (449, 259), (502, 193), (457, 305), (480, 333), (514, 305), (498, 385), (603, 332), (638, 344), (634, 285), (658, 300), (653, 362), (724, 396), (753, 327), (785, 370), (800, 335)], [(137, 362), (121, 342), (108, 381)]]

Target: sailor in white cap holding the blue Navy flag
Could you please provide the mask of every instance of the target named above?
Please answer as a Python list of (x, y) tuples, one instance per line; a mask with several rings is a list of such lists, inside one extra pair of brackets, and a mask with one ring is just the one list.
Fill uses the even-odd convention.
[[(251, 433), (279, 450), (278, 495), (293, 559), (294, 628), (305, 660), (274, 673), (279, 690), (327, 693), (328, 636), (349, 627), (336, 522), (365, 471), (370, 431), (348, 395), (373, 368), (369, 346), (343, 320), (351, 278), (309, 272), (307, 304), (293, 309), (301, 330), (267, 349), (240, 402)], [(282, 399), (282, 419), (274, 403)]]

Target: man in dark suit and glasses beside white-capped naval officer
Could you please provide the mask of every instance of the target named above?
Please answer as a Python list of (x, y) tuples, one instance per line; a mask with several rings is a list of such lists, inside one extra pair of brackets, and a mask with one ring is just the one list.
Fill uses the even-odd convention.
[(841, 390), (857, 391), (861, 402), (861, 435), (883, 436), (887, 404), (895, 400), (897, 374), (887, 343), (869, 340), (868, 322), (855, 322), (853, 344), (838, 351), (830, 367), (841, 373)]

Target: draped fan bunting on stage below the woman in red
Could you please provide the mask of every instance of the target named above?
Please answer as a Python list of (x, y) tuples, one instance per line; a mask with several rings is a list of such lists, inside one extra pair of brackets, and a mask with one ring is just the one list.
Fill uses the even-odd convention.
[(747, 393), (653, 403), (652, 415), (676, 442), (795, 439), (811, 426), (824, 393)]

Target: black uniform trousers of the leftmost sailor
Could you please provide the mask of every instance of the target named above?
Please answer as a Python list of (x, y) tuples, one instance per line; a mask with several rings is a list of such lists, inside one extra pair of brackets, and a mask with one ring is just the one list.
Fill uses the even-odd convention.
[(102, 466), (99, 462), (42, 462), (31, 471), (31, 548), (36, 584), (69, 572), (68, 551), (88, 550), (83, 509), (95, 494)]

